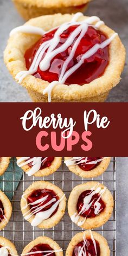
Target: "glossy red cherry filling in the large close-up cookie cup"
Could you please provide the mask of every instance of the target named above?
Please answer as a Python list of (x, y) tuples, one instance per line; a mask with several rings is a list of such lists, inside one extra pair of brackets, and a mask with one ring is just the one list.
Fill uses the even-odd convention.
[[(56, 48), (62, 46), (62, 44), (66, 42), (69, 35), (71, 35), (74, 29), (76, 29), (78, 26), (79, 25), (71, 25), (71, 27), (63, 31), (63, 33), (60, 36), (60, 42), (56, 46)], [(52, 39), (54, 37), (55, 31), (56, 29), (44, 34), (39, 41), (37, 41), (33, 46), (27, 49), (27, 51), (24, 54), (27, 69), (30, 68), (34, 56), (39, 47), (41, 46), (41, 44)], [(40, 67), (38, 67), (37, 72), (33, 75), (36, 78), (40, 78), (48, 82), (59, 81), (59, 76), (61, 74), (63, 63), (66, 61), (67, 57), (71, 53), (71, 50), (74, 46), (76, 39), (77, 37), (75, 38), (71, 46), (69, 46), (64, 52), (61, 52), (57, 54), (55, 57), (53, 57), (52, 61), (50, 62), (50, 68), (47, 69), (47, 71), (41, 71)], [(84, 37), (82, 37), (75, 51), (74, 57), (69, 62), (67, 70), (73, 67), (76, 63), (78, 63), (81, 59), (81, 56), (85, 54), (89, 49), (91, 49), (95, 44), (102, 43), (106, 39), (107, 36), (103, 32), (96, 28), (93, 28), (92, 26), (89, 26)], [(109, 46), (106, 46), (104, 49), (100, 48), (91, 57), (85, 59), (84, 63), (67, 78), (65, 84), (84, 85), (103, 75), (109, 62), (108, 50)], [(44, 52), (42, 59), (46, 55), (46, 52)]]

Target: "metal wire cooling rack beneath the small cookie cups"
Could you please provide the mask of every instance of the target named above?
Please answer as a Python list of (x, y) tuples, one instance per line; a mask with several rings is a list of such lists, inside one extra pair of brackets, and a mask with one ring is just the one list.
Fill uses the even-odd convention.
[[(23, 191), (29, 187), (29, 185), (33, 181), (37, 180), (47, 180), (59, 186), (63, 192), (66, 194), (68, 199), (71, 190), (75, 185), (87, 182), (87, 181), (98, 181), (104, 183), (106, 187), (111, 191), (114, 198), (114, 209), (110, 220), (105, 223), (104, 226), (101, 226), (95, 231), (99, 232), (103, 235), (107, 241), (108, 245), (111, 249), (111, 256), (116, 256), (116, 158), (111, 158), (111, 163), (104, 172), (103, 175), (93, 178), (91, 180), (80, 178), (75, 174), (72, 174), (71, 171), (68, 170), (64, 161), (62, 160), (62, 165), (54, 172), (53, 175), (39, 178), (39, 177), (28, 177), (27, 174), (24, 174), (21, 169), (17, 168), (16, 158), (11, 158), (12, 168), (9, 169), (8, 172), (12, 174), (12, 181), (9, 181), (5, 178), (5, 174), (3, 175), (3, 191), (5, 194), (12, 195), (12, 216), (8, 225), (4, 228), (3, 231), (0, 232), (1, 236), (8, 238), (12, 242), (14, 242), (18, 255), (22, 253), (22, 250), (25, 245), (27, 245), (31, 240), (37, 238), (37, 236), (45, 235), (54, 239), (63, 249), (63, 253), (65, 254), (66, 248), (69, 242), (76, 233), (81, 231), (81, 228), (72, 223), (66, 208), (66, 213), (63, 216), (63, 219), (59, 222), (58, 225), (51, 229), (41, 230), (39, 228), (31, 227), (30, 223), (23, 219), (21, 209), (20, 209), (20, 200), (23, 194)], [(16, 172), (22, 173), (21, 180), (16, 180)], [(12, 182), (13, 189), (8, 190), (7, 184), (8, 182)], [(17, 190), (15, 190), (15, 183), (19, 182)]]

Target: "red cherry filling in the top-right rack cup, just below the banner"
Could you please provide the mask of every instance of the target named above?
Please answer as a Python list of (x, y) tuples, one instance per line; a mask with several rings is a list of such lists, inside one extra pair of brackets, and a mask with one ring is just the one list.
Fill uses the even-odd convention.
[[(100, 162), (98, 162), (98, 163), (92, 163), (92, 164), (87, 164), (87, 163), (89, 163), (89, 162), (93, 162), (93, 161), (97, 161), (98, 159), (101, 159), (101, 158), (103, 158), (103, 156), (100, 156), (100, 157), (88, 157), (87, 158), (87, 162), (84, 164), (84, 163), (80, 163), (80, 164), (78, 164), (79, 165), (79, 167), (82, 169), (82, 170), (84, 170), (84, 171), (91, 171), (91, 170), (93, 170), (94, 168), (96, 168), (100, 163), (101, 163), (101, 161)], [(77, 162), (76, 162), (77, 163)]]

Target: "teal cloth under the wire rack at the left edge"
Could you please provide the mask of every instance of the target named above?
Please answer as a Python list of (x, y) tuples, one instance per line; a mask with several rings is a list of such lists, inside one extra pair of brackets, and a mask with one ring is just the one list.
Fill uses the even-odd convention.
[(13, 191), (17, 189), (22, 175), (23, 171), (16, 164), (16, 158), (12, 157), (8, 169), (4, 172), (4, 175), (0, 176), (0, 189), (4, 191), (9, 200), (12, 199)]

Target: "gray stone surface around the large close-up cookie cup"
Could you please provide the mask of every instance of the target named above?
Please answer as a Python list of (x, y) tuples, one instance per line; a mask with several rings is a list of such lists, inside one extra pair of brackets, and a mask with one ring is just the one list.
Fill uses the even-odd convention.
[[(4, 63), (3, 50), (7, 44), (9, 32), (12, 28), (23, 24), (22, 18), (17, 14), (11, 0), (0, 0), (0, 23), (1, 23), (1, 52), (0, 52), (0, 101), (30, 101), (30, 98), (24, 88), (17, 85), (11, 78)], [(126, 48), (128, 46), (127, 33), (127, 14), (128, 2), (127, 0), (94, 0), (89, 4), (86, 12), (87, 15), (98, 15), (105, 23), (116, 30)], [(127, 61), (126, 61), (127, 63)], [(112, 89), (107, 101), (128, 101), (128, 86), (127, 86), (127, 65), (120, 84)]]

